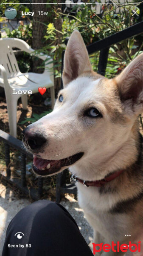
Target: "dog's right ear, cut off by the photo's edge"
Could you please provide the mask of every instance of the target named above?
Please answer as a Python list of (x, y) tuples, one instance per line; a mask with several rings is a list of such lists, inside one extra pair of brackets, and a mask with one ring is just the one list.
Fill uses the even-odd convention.
[(143, 53), (115, 78), (121, 100), (136, 113), (143, 112)]

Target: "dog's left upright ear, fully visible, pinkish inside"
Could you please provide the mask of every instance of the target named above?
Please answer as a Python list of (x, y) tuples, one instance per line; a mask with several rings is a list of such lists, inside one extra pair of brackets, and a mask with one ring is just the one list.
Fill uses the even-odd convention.
[(87, 48), (79, 31), (75, 30), (67, 43), (64, 54), (63, 84), (64, 87), (83, 72), (91, 72), (92, 67)]

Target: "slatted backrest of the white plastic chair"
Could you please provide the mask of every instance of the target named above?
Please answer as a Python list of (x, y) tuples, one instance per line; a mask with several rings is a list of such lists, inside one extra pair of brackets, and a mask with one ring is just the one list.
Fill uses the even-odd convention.
[(8, 78), (20, 73), (13, 48), (21, 49), (21, 44), (22, 40), (17, 38), (0, 38), (0, 64), (5, 67)]

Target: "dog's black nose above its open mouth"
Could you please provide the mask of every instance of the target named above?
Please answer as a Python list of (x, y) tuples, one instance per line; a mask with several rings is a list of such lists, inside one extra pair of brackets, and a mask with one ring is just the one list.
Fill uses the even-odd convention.
[(40, 148), (47, 140), (43, 134), (37, 133), (35, 129), (26, 127), (22, 131), (23, 142), (32, 150)]

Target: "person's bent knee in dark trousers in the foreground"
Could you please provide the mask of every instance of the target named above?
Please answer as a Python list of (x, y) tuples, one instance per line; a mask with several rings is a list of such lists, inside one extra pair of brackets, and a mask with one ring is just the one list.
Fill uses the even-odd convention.
[(70, 213), (62, 205), (47, 200), (36, 201), (17, 213), (8, 226), (2, 253), (39, 255), (93, 256)]

